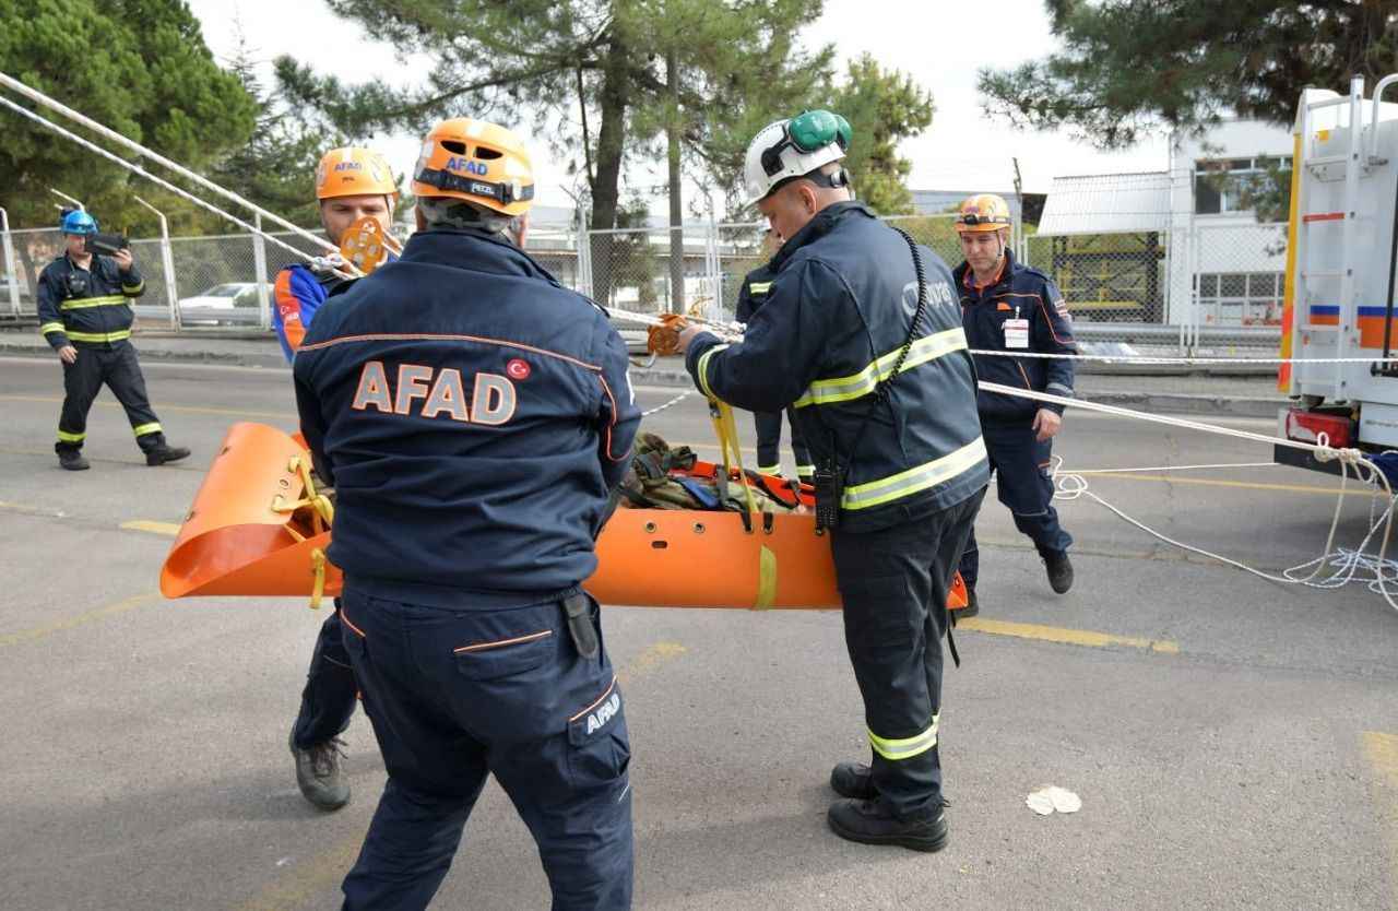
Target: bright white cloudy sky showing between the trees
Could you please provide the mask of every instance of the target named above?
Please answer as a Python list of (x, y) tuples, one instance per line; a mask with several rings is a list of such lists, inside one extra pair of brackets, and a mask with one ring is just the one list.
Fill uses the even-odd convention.
[[(204, 38), (219, 57), (236, 43), (235, 18), (242, 22), (259, 59), (291, 53), (319, 71), (347, 81), (369, 78), (394, 85), (411, 81), (411, 67), (394, 60), (362, 29), (331, 15), (319, 0), (189, 0), (204, 27)], [(935, 11), (932, 11), (935, 10)], [(916, 13), (914, 13), (916, 11)], [(976, 94), (976, 70), (1009, 67), (1054, 48), (1042, 0), (998, 3), (911, 3), (906, 0), (826, 0), (823, 15), (804, 32), (809, 46), (835, 43), (843, 61), (871, 52), (885, 67), (903, 70), (932, 92), (937, 116), (931, 129), (905, 143), (902, 152), (913, 162), (911, 186), (918, 190), (1008, 190), (1011, 158), (1019, 158), (1026, 191), (1047, 191), (1053, 177), (1083, 173), (1163, 170), (1163, 138), (1123, 154), (1104, 155), (1067, 136), (1018, 133), (987, 120)], [(418, 140), (394, 137), (375, 143), (393, 166), (408, 172)], [(572, 205), (562, 187), (569, 182), (562, 163), (549, 161), (542, 144), (534, 145), (538, 200)], [(633, 182), (663, 182), (657, 163), (653, 175), (630, 173)], [(657, 201), (657, 208), (663, 203)]]

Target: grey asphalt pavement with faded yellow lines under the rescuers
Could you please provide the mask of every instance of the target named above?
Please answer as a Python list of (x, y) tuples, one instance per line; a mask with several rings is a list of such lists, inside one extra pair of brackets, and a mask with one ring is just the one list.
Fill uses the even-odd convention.
[[(103, 393), (92, 469), (70, 474), (52, 451), (56, 360), (0, 358), (0, 904), (337, 907), (384, 777), (359, 714), (351, 805), (320, 813), (296, 791), (287, 731), (323, 613), (157, 594), (228, 425), (294, 426), (288, 374), (152, 358), (147, 380), (194, 457), (147, 468)], [(714, 451), (695, 395), (646, 428)], [(1069, 411), (1057, 451), (1155, 531), (1268, 571), (1316, 557), (1336, 504), (1336, 479), (1237, 439)], [(1176, 471), (1190, 465), (1225, 467)], [(1350, 485), (1336, 542), (1381, 506)], [(836, 613), (608, 608), (636, 907), (1398, 907), (1398, 612), (1359, 584), (1282, 585), (1186, 553), (1085, 497), (1060, 511), (1078, 570), (1062, 597), (987, 497), (981, 616), (958, 629), (944, 693), (952, 841), (935, 855), (825, 827), (830, 766), (868, 749)], [(1033, 813), (1026, 795), (1050, 784), (1081, 812)], [(547, 905), (492, 784), (435, 907)]]

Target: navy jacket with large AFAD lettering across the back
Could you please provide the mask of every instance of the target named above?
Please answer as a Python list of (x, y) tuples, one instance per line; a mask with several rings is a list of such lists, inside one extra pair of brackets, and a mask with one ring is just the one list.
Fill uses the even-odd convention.
[(499, 235), (425, 231), (316, 314), (292, 372), (361, 591), (530, 604), (593, 574), (640, 412), (626, 345)]

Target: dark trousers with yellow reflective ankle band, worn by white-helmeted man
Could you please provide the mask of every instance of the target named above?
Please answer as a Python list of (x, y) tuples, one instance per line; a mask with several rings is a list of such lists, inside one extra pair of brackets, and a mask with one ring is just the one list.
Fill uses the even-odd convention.
[(835, 531), (844, 646), (864, 697), (879, 801), (900, 819), (937, 813), (942, 763), (946, 594), (984, 489), (931, 516), (868, 534)]

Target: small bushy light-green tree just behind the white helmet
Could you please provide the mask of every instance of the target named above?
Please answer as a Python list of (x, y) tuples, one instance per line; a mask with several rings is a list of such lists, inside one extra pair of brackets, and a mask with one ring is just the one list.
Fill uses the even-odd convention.
[(913, 162), (898, 154), (898, 144), (932, 124), (931, 94), (905, 73), (885, 71), (865, 53), (850, 61), (829, 108), (850, 122), (854, 143), (846, 168), (860, 198), (884, 215), (911, 212), (907, 175)]

